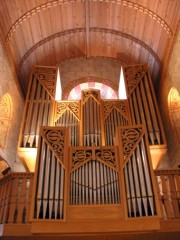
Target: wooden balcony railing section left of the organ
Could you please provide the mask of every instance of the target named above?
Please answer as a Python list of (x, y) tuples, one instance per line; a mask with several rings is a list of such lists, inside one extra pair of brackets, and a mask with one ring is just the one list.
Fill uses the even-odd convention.
[(9, 173), (0, 180), (0, 224), (29, 223), (33, 173)]

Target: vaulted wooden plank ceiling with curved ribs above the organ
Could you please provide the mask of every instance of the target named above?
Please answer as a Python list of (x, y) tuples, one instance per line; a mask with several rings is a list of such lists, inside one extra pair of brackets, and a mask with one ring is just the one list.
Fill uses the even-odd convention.
[(0, 0), (0, 30), (25, 90), (32, 65), (79, 58), (147, 63), (157, 83), (179, 13), (179, 0)]

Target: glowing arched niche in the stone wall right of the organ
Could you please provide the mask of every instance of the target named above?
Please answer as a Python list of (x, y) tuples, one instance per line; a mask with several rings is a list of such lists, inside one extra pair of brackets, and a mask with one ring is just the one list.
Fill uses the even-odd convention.
[(180, 142), (180, 95), (175, 87), (172, 87), (169, 91), (168, 104), (171, 124)]

